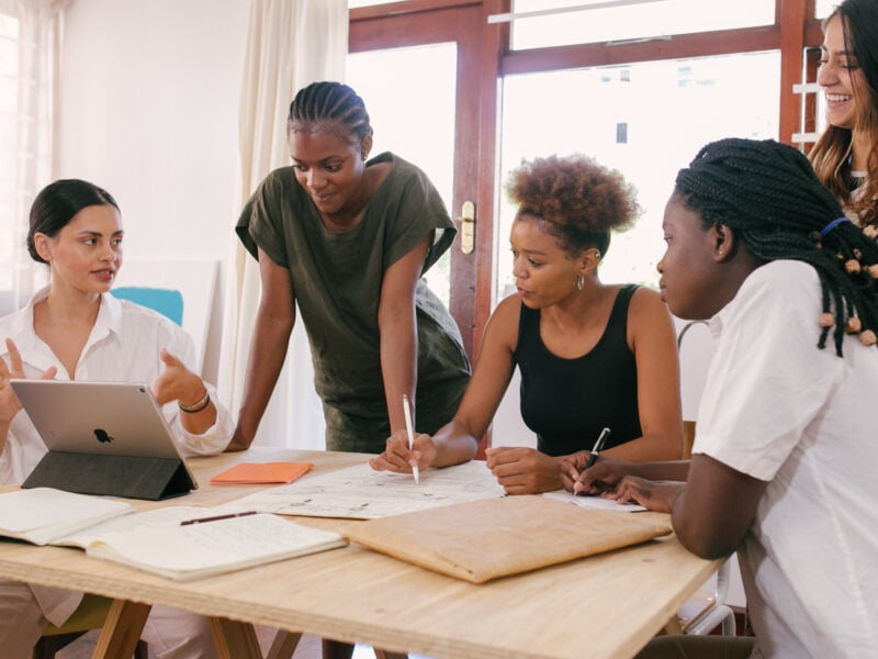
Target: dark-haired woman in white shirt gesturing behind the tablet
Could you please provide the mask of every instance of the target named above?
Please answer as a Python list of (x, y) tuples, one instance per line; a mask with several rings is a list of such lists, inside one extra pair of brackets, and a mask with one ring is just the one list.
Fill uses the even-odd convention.
[[(193, 371), (189, 335), (110, 293), (123, 233), (115, 200), (87, 181), (55, 181), (33, 203), (27, 247), (48, 265), (50, 283), (0, 319), (0, 484), (20, 483), (46, 453), (10, 378), (148, 382), (184, 455), (221, 453), (232, 438), (228, 412)], [(47, 622), (61, 625), (81, 599), (0, 580), (3, 656), (30, 657)], [(205, 618), (194, 614), (154, 607), (144, 638), (162, 658), (216, 656)]]

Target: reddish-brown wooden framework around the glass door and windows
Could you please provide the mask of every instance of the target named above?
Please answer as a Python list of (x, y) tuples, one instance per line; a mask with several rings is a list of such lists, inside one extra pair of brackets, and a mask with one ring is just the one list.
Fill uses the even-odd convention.
[[(578, 44), (511, 51), (508, 23), (487, 22), (491, 14), (510, 11), (510, 4), (511, 0), (407, 0), (350, 10), (352, 53), (457, 41), (464, 32), (469, 35), (459, 51), (463, 60), (459, 60), (458, 67), (458, 94), (470, 102), (463, 109), (459, 107), (454, 196), (449, 211), (457, 222), (463, 201), (475, 200), (475, 252), (465, 257), (460, 253), (459, 242), (452, 247), (450, 302), (472, 357), (477, 354), (493, 304), (495, 201), (496, 188), (502, 182), (497, 179), (497, 127), (499, 88), (505, 76), (776, 49), (780, 52), (778, 135), (781, 142), (791, 144), (792, 134), (803, 125), (802, 100), (793, 93), (792, 86), (802, 81), (804, 53), (819, 47), (823, 40), (820, 22), (811, 18), (814, 0), (776, 0), (773, 25), (671, 35), (662, 41), (612, 46)], [(466, 62), (469, 58), (474, 60)], [(477, 99), (475, 105), (474, 99)], [(804, 122), (813, 122), (808, 111)]]

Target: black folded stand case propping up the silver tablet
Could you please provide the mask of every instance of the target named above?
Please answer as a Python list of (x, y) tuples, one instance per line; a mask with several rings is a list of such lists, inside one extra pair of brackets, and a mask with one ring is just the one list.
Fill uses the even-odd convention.
[(79, 494), (102, 494), (159, 501), (180, 496), (195, 484), (179, 458), (103, 456), (50, 450), (22, 488), (55, 488)]

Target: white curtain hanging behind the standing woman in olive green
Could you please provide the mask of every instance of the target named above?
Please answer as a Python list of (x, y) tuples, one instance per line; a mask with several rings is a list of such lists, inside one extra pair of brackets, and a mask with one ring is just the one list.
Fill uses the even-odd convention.
[[(266, 175), (290, 164), (286, 115), (295, 92), (318, 80), (344, 80), (347, 54), (347, 0), (250, 1), (236, 211)], [(229, 264), (218, 390), (234, 414), (240, 406), (260, 283), (256, 260), (237, 241)], [(324, 427), (311, 351), (300, 321), (254, 444), (322, 449)]]

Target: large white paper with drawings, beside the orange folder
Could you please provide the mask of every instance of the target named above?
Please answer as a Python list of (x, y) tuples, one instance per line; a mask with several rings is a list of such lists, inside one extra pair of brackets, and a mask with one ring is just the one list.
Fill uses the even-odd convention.
[(410, 473), (374, 471), (357, 465), (324, 474), (307, 474), (238, 499), (236, 510), (281, 515), (372, 520), (453, 503), (503, 496), (503, 488), (482, 461), (428, 469), (415, 484)]

